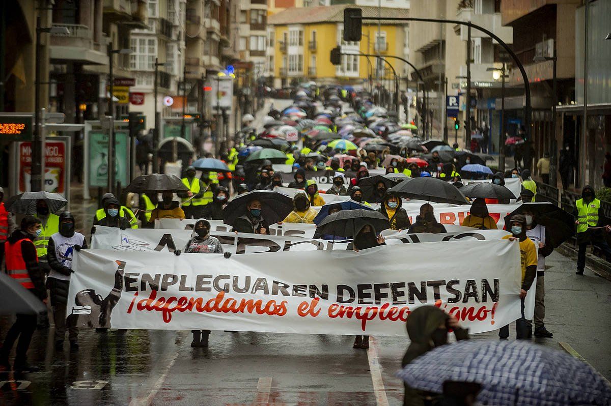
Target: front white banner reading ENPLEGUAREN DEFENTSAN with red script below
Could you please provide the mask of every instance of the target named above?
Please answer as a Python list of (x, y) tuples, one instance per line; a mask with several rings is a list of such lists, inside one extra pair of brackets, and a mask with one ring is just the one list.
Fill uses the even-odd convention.
[(269, 258), (81, 250), (73, 262), (68, 318), (88, 327), (404, 336), (409, 314), (425, 304), (455, 315), (473, 333), (520, 317), (518, 242), (430, 242)]

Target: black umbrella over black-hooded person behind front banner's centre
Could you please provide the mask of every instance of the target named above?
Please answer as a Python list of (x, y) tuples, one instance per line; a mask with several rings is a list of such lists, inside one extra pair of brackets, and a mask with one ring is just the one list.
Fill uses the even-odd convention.
[(365, 225), (373, 227), (376, 233), (390, 228), (388, 218), (381, 212), (365, 209), (342, 210), (327, 216), (316, 227), (314, 238), (325, 234), (354, 237)]

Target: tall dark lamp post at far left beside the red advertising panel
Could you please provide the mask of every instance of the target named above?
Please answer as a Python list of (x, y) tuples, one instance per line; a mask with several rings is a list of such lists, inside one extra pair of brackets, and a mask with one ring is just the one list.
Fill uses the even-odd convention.
[[(30, 189), (32, 192), (43, 190), (42, 184), (42, 150), (43, 139), (40, 134), (40, 61), (38, 60), (38, 48), (40, 48), (40, 34), (70, 34), (66, 27), (41, 27), (40, 16), (36, 17), (36, 43), (34, 44), (34, 131), (32, 137), (32, 168)], [(4, 81), (4, 79), (0, 79)]]

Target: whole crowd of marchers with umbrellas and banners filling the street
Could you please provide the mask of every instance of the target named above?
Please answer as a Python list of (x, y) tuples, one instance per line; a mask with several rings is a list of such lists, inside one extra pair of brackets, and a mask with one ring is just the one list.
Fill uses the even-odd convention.
[[(511, 398), (514, 404), (611, 404), (609, 385), (595, 372), (585, 365), (573, 366), (572, 360), (531, 341), (533, 336), (553, 337), (545, 324), (546, 257), (573, 237), (579, 246), (577, 275), (584, 274), (588, 244), (611, 255), (604, 240), (610, 228), (591, 187), (584, 187), (574, 213), (535, 202), (536, 184), (529, 170), (495, 172), (486, 165), (491, 160), (486, 154), (443, 140), (423, 140), (414, 123), (401, 123), (396, 114), (373, 104), (371, 95), (362, 90), (331, 86), (321, 91), (314, 84), (305, 84), (295, 93), (291, 106), (281, 111), (272, 107), (261, 126), (255, 126), (250, 114), (244, 115), (242, 124), (233, 147), (222, 150), (219, 159), (211, 153), (193, 157), (182, 162), (181, 177), (141, 175), (121, 195), (103, 195), (87, 233), (65, 211), (67, 201), (57, 195), (26, 192), (4, 199), (0, 190), (4, 201), (0, 203), (0, 255), (5, 271), (49, 309), (56, 349), (69, 346), (78, 350), (82, 328), (95, 328), (100, 334), (109, 328), (143, 328), (137, 327), (137, 320), (127, 318), (131, 312), (146, 316), (157, 311), (159, 318), (163, 314), (166, 326), (159, 328), (192, 330), (192, 347), (210, 345), (211, 332), (288, 332), (274, 330), (273, 321), (263, 322), (263, 330), (257, 330), (257, 321), (233, 327), (230, 320), (221, 318), (288, 317), (287, 312), (294, 311), (291, 300), (301, 296), (312, 302), (307, 302), (309, 310), (299, 305), (298, 313), (303, 313), (299, 316), (308, 312), (316, 316), (318, 305), (318, 311), (337, 317), (337, 332), (332, 333), (354, 336), (356, 350), (370, 347), (370, 335), (404, 335), (407, 330), (409, 343), (406, 341), (404, 369), (399, 373), (404, 381), (404, 405), (467, 405), (476, 398), (500, 405), (506, 404), (499, 400), (505, 395), (515, 395)], [(128, 205), (127, 201), (137, 203)], [(392, 274), (387, 286), (370, 284), (367, 299), (362, 287), (367, 280), (365, 267), (379, 263), (390, 272), (395, 262), (403, 261), (401, 255), (411, 255), (412, 250), (452, 249), (473, 253), (481, 249), (491, 261), (498, 261), (490, 267), (502, 264), (507, 272), (481, 264), (466, 270), (469, 276), (464, 279), (430, 275), (431, 280), (420, 283), (396, 281)], [(109, 250), (115, 250), (116, 258), (109, 256)], [(94, 258), (97, 252), (100, 258), (106, 257)], [(194, 255), (201, 253), (210, 255)], [(331, 256), (335, 253), (343, 256)], [(252, 258), (252, 270), (269, 268), (273, 276), (267, 280), (257, 274), (251, 279), (233, 270), (240, 267), (243, 255)], [(274, 274), (274, 269), (282, 269), (283, 255), (298, 260), (310, 255), (331, 264), (336, 259), (345, 261), (345, 269), (340, 268), (345, 275), (353, 275), (354, 285), (324, 279), (316, 285), (316, 278), (315, 282), (289, 280), (298, 269)], [(134, 267), (132, 258), (141, 258), (139, 263), (148, 261), (150, 269)], [(279, 258), (278, 263), (274, 258)], [(97, 269), (96, 261), (101, 264)], [(472, 261), (475, 264), (476, 259)], [(200, 272), (210, 275), (191, 272), (197, 263), (205, 265)], [(229, 263), (232, 267), (225, 265)], [(163, 264), (174, 267), (175, 275), (159, 270)], [(478, 269), (488, 273), (480, 274)], [(87, 278), (81, 275), (94, 274), (103, 283), (83, 285)], [(326, 303), (336, 285), (338, 300)], [(431, 286), (434, 288), (429, 289)], [(109, 292), (106, 296), (104, 289)], [(232, 299), (249, 291), (255, 299), (265, 297), (262, 304)], [(173, 313), (170, 299), (165, 308), (163, 303), (153, 304), (161, 300), (156, 297), (170, 293), (176, 303)], [(205, 295), (203, 301), (199, 294)], [(203, 321), (190, 316), (198, 312), (205, 316), (218, 312), (222, 317)], [(17, 314), (2, 343), (0, 365), (37, 371), (37, 366), (27, 362), (27, 349), (37, 325), (45, 323), (48, 317), (40, 314)], [(390, 324), (393, 327), (384, 327)], [(498, 330), (498, 342), (469, 343), (469, 332), (491, 330)], [(314, 328), (312, 332), (318, 331)], [(448, 344), (450, 335), (458, 342)], [(518, 367), (505, 371), (499, 366), (502, 377), (495, 379), (501, 384), (494, 386), (481, 379), (474, 365), (463, 366), (463, 375), (448, 372), (445, 376), (444, 368), (438, 366), (434, 373), (421, 361), (431, 353), (440, 359), (463, 359), (467, 352), (481, 352), (484, 347), (499, 354), (499, 365), (511, 352), (528, 352), (532, 359), (549, 363), (544, 368), (552, 368), (547, 365), (562, 358), (574, 374), (591, 377), (591, 390), (567, 390), (569, 394), (561, 396), (558, 388), (562, 385), (550, 384), (557, 398), (548, 391), (545, 399), (528, 403), (518, 401), (516, 394), (520, 385), (513, 374), (521, 373)], [(521, 388), (522, 396), (534, 398), (533, 388)]]

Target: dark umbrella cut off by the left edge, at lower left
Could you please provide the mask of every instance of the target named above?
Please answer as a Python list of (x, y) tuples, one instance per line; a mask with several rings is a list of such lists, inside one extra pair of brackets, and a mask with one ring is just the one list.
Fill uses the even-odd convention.
[(0, 314), (46, 313), (46, 306), (14, 278), (0, 273)]

